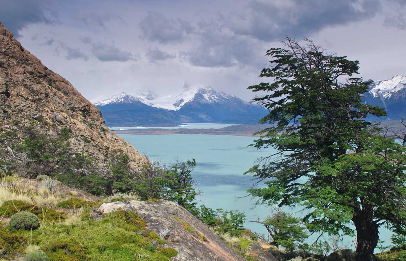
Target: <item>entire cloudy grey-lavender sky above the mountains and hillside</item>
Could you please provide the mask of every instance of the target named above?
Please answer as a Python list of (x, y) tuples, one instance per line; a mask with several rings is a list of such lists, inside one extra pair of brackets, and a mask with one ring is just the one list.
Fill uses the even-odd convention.
[(246, 88), (285, 36), (360, 61), (365, 80), (406, 75), (406, 0), (0, 0), (0, 22), (87, 99), (206, 84)]

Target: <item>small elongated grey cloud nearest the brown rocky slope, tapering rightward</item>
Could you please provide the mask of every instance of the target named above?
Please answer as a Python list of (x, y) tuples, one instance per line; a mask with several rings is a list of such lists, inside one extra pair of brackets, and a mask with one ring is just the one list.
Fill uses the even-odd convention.
[(82, 38), (83, 43), (91, 45), (92, 54), (102, 62), (118, 61), (126, 62), (128, 60), (139, 60), (140, 55), (133, 55), (131, 52), (122, 51), (113, 44), (105, 44), (102, 42), (93, 42), (91, 37)]

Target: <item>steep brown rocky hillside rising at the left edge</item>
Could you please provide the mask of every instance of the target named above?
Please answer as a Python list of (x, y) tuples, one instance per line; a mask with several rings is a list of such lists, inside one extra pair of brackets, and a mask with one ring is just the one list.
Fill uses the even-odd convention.
[(121, 149), (132, 165), (147, 159), (105, 125), (100, 110), (63, 77), (50, 71), (30, 54), (0, 23), (0, 131), (41, 126), (47, 135), (65, 127), (71, 146), (102, 161), (109, 149)]

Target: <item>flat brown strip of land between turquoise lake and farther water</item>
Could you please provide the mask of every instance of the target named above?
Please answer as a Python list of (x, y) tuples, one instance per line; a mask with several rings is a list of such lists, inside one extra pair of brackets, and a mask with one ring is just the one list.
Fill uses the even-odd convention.
[[(270, 125), (232, 125), (221, 129), (127, 129), (116, 130), (116, 134), (133, 135), (166, 135), (166, 134), (207, 134), (207, 135), (233, 135), (233, 136), (253, 136)], [(259, 134), (255, 135), (259, 136)]]

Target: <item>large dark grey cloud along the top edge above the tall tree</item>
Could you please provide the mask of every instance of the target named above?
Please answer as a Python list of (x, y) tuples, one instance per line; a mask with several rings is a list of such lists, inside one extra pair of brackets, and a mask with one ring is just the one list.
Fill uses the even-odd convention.
[(285, 35), (301, 37), (328, 26), (369, 19), (381, 9), (379, 0), (253, 0), (225, 23), (237, 35), (275, 41)]

